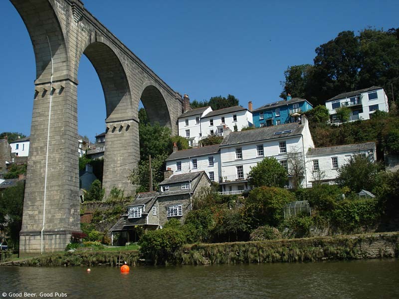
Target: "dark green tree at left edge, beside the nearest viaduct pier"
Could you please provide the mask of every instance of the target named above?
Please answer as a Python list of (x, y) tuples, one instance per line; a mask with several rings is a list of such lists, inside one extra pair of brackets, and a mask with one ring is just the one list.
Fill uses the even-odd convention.
[(25, 184), (18, 182), (0, 192), (0, 230), (8, 236), (8, 246), (18, 250), (19, 231), (22, 226), (23, 196)]

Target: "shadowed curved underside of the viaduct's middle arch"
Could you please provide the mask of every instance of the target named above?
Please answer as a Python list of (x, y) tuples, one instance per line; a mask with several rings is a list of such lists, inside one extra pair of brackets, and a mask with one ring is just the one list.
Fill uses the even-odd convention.
[(107, 44), (95, 41), (84, 49), (83, 54), (100, 79), (105, 98), (106, 122), (132, 119), (133, 103), (129, 82), (116, 53)]

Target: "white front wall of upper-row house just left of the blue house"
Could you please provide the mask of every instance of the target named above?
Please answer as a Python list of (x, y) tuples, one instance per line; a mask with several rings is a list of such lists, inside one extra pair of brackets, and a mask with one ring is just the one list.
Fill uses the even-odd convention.
[[(236, 121), (234, 121), (234, 115), (236, 116)], [(222, 123), (222, 117), (224, 117), (224, 123)], [(212, 125), (210, 120), (212, 120)], [(241, 110), (213, 117), (206, 117), (205, 115), (201, 118), (202, 137), (205, 138), (212, 134), (216, 135), (218, 129), (223, 128), (223, 126), (228, 127), (231, 131), (234, 131), (234, 126), (237, 126), (237, 131), (241, 131), (242, 128), (249, 127), (252, 123), (252, 113), (248, 110)], [(221, 136), (222, 135), (223, 134), (221, 134)]]

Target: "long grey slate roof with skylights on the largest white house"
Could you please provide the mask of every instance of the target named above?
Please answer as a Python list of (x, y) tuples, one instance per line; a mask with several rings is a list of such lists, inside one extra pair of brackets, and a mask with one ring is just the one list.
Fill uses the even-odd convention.
[[(290, 123), (278, 126), (263, 127), (253, 130), (245, 130), (239, 132), (231, 132), (220, 144), (220, 147), (244, 144), (244, 143), (255, 143), (263, 140), (287, 138), (290, 136), (300, 135), (305, 125), (298, 123)], [(274, 135), (276, 132), (283, 132), (292, 130), (290, 133), (284, 133), (280, 135)]]

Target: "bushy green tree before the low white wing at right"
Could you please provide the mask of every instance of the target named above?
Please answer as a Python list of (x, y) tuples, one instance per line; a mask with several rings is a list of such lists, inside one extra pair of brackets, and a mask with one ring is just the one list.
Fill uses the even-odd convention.
[(355, 154), (349, 163), (338, 169), (337, 181), (341, 186), (347, 186), (354, 192), (362, 189), (373, 190), (376, 175), (382, 169), (380, 163), (371, 161), (369, 157)]

